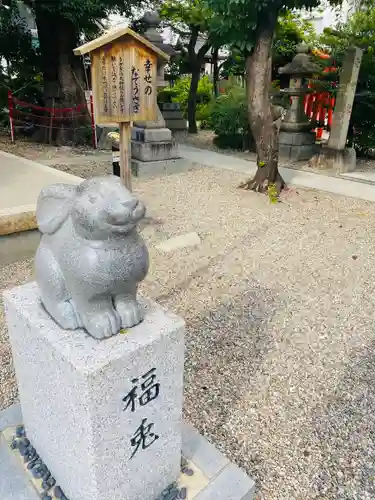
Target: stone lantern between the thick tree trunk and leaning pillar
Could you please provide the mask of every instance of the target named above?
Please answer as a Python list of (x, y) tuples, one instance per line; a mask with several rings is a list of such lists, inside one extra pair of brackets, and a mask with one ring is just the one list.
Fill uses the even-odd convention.
[(304, 80), (319, 73), (320, 68), (311, 61), (305, 44), (297, 46), (297, 54), (279, 73), (290, 76), (288, 89), (282, 93), (291, 97), (292, 103), (280, 125), (279, 153), (289, 160), (309, 160), (319, 149), (315, 144), (312, 125), (304, 112), (304, 96), (310, 91)]

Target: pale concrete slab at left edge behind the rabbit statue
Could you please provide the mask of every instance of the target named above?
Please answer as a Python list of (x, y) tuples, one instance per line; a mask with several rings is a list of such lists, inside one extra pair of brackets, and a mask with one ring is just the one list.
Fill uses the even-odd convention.
[(0, 235), (36, 228), (35, 209), (41, 189), (79, 177), (0, 151)]

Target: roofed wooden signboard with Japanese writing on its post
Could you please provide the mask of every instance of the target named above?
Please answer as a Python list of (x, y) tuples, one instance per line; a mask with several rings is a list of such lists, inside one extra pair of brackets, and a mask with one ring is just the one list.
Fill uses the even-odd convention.
[(111, 30), (74, 50), (88, 53), (95, 121), (120, 125), (120, 175), (131, 191), (131, 123), (157, 119), (157, 64), (169, 56), (129, 28)]

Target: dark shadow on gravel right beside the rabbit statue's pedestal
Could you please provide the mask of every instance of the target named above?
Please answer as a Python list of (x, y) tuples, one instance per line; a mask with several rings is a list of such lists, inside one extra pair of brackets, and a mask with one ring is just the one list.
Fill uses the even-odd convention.
[(274, 349), (267, 325), (284, 305), (257, 282), (246, 280), (241, 287), (241, 294), (188, 325), (184, 417), (254, 476), (259, 459), (242, 461), (241, 435), (228, 435), (225, 424)]

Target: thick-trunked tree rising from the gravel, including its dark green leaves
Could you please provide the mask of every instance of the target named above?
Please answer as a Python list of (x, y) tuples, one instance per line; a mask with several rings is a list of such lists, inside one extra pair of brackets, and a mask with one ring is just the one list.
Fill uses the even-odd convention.
[[(281, 190), (278, 171), (278, 125), (270, 102), (272, 46), (278, 18), (285, 9), (311, 8), (319, 0), (208, 0), (215, 12), (213, 29), (224, 43), (236, 44), (246, 53), (249, 123), (256, 143), (258, 169), (247, 189)], [(335, 3), (336, 0), (332, 0)], [(337, 2), (338, 3), (338, 2)]]

